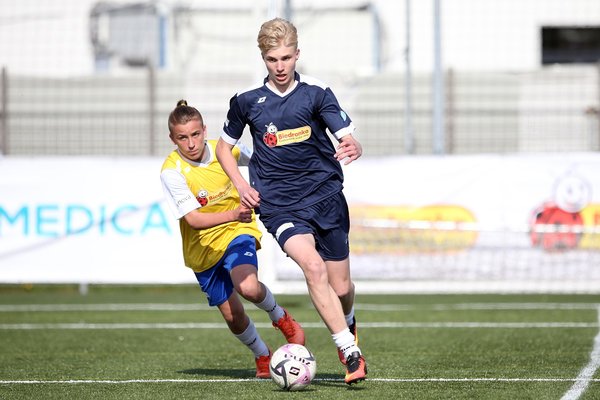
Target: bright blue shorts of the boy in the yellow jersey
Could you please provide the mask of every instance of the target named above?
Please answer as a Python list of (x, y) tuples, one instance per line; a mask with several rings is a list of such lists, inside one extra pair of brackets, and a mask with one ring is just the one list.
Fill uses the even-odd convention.
[(223, 304), (233, 293), (233, 282), (229, 275), (238, 265), (250, 264), (258, 269), (256, 239), (240, 235), (233, 239), (219, 262), (206, 271), (196, 272), (196, 279), (206, 294), (210, 306)]

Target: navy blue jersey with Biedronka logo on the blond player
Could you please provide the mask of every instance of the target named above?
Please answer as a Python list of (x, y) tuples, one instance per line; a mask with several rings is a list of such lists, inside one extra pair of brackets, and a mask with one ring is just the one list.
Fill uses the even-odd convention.
[(250, 128), (250, 185), (260, 193), (262, 212), (301, 209), (343, 188), (327, 129), (341, 138), (354, 125), (331, 89), (305, 75), (295, 78), (295, 87), (284, 94), (270, 89), (267, 78), (237, 93), (223, 126), (221, 137), (229, 144)]

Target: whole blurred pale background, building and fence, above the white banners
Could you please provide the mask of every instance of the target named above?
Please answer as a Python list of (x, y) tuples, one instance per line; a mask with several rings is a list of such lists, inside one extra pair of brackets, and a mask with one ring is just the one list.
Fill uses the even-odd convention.
[(179, 98), (218, 137), (273, 16), (365, 156), (597, 151), (596, 0), (0, 2), (0, 153), (162, 155)]

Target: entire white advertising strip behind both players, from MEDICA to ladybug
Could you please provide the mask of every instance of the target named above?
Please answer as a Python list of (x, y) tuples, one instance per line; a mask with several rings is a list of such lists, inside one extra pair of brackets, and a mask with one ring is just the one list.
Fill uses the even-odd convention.
[[(161, 164), (0, 159), (0, 282), (195, 282)], [(362, 158), (345, 174), (359, 289), (600, 291), (598, 154)], [(547, 226), (567, 232), (531, 232)], [(274, 291), (304, 290), (268, 235), (259, 254)]]

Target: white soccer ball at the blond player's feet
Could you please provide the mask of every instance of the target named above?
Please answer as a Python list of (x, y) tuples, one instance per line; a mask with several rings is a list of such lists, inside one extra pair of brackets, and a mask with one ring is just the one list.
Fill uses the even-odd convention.
[(289, 391), (302, 390), (317, 373), (315, 356), (300, 344), (288, 343), (271, 356), (269, 364), (271, 379), (280, 388)]

